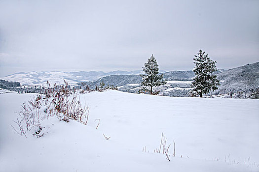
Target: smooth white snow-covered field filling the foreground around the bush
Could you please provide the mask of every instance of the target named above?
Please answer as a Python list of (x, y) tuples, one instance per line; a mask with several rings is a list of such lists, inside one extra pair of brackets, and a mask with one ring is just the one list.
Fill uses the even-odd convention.
[(91, 92), (88, 125), (53, 116), (20, 137), (10, 124), (33, 95), (0, 94), (0, 172), (259, 172), (259, 100)]

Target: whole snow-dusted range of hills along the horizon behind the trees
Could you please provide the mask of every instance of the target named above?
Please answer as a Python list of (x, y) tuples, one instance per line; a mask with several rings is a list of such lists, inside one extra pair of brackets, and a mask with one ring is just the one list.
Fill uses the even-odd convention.
[[(1, 78), (12, 82), (20, 82), (22, 85), (42, 85), (47, 81), (50, 84), (63, 84), (66, 80), (70, 85), (87, 85), (90, 88), (95, 88), (95, 85), (100, 86), (103, 82), (106, 85), (118, 86), (120, 90), (128, 92), (137, 92), (142, 78), (139, 74), (142, 70), (137, 71), (113, 71), (113, 72), (28, 72), (16, 73)], [(167, 85), (161, 86), (158, 89), (163, 95), (170, 96), (185, 96), (190, 88), (190, 83), (195, 76), (193, 71), (170, 71), (165, 72), (164, 79)], [(215, 94), (249, 93), (253, 89), (259, 87), (259, 62), (247, 64), (237, 68), (224, 70), (218, 69), (218, 79), (221, 81), (221, 86), (216, 90)], [(179, 82), (169, 82), (179, 81)]]

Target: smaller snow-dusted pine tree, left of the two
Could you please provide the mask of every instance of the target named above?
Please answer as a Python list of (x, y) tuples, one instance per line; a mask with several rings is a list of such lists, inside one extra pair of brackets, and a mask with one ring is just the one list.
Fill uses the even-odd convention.
[(148, 62), (144, 64), (143, 71), (144, 75), (140, 75), (142, 77), (143, 82), (141, 86), (148, 86), (150, 89), (150, 94), (152, 94), (152, 87), (153, 86), (161, 86), (165, 85), (163, 81), (163, 74), (158, 74), (158, 64), (156, 62), (155, 57), (153, 55), (148, 58)]

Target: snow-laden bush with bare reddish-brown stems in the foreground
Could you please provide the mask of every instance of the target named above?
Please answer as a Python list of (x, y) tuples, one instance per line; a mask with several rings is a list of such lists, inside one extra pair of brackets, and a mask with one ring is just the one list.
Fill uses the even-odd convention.
[(34, 136), (41, 137), (44, 135), (40, 122), (50, 116), (57, 116), (60, 120), (69, 122), (70, 119), (87, 124), (89, 117), (89, 107), (80, 102), (80, 96), (77, 93), (72, 94), (68, 83), (64, 81), (64, 85), (48, 88), (44, 94), (31, 98), (28, 103), (23, 103), (20, 107), (21, 111), (17, 112), (19, 118), (16, 127), (13, 129), (19, 135), (31, 133)]

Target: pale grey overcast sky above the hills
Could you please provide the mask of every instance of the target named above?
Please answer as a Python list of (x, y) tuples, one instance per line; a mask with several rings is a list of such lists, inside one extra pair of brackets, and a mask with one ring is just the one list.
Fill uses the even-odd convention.
[(0, 77), (28, 71), (229, 69), (259, 61), (259, 0), (0, 0)]

